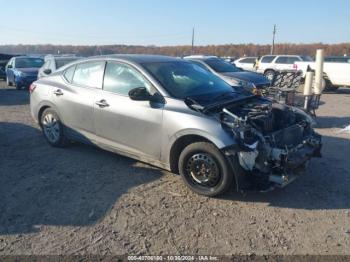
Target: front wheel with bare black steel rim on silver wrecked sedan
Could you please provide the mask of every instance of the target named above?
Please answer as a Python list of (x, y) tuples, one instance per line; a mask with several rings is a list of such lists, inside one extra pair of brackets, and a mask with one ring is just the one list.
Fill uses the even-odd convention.
[(185, 184), (204, 196), (225, 193), (232, 185), (233, 172), (225, 156), (213, 144), (188, 145), (179, 157), (179, 173)]

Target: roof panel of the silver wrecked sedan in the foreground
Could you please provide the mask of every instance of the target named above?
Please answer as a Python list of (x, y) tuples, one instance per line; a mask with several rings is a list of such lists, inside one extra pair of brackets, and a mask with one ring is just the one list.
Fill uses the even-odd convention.
[(115, 54), (115, 55), (101, 55), (89, 57), (86, 60), (90, 59), (120, 59), (124, 61), (134, 62), (138, 64), (142, 63), (157, 63), (157, 62), (171, 62), (171, 61), (181, 61), (180, 58), (164, 55), (143, 55), (143, 54)]

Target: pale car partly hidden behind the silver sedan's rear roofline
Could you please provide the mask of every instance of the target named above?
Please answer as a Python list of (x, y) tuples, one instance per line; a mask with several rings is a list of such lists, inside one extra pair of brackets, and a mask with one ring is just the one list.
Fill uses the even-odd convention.
[(61, 68), (62, 66), (69, 64), (71, 62), (74, 62), (78, 59), (81, 59), (81, 57), (76, 55), (46, 55), (44, 57), (44, 64), (39, 69), (38, 72), (38, 78), (42, 78), (45, 76), (48, 76), (55, 72), (57, 69)]

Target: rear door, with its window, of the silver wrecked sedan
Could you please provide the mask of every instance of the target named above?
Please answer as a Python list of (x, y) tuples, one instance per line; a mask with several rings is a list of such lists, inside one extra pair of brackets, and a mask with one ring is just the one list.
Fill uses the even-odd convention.
[(105, 61), (89, 61), (69, 67), (65, 84), (52, 90), (53, 101), (70, 136), (94, 142), (94, 101), (102, 88)]

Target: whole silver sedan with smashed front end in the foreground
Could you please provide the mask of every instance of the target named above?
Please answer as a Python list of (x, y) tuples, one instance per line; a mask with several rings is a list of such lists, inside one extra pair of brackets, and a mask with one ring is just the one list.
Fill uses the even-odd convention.
[(33, 83), (30, 108), (50, 145), (92, 143), (180, 173), (206, 196), (285, 186), (321, 148), (302, 110), (173, 57), (77, 61)]

